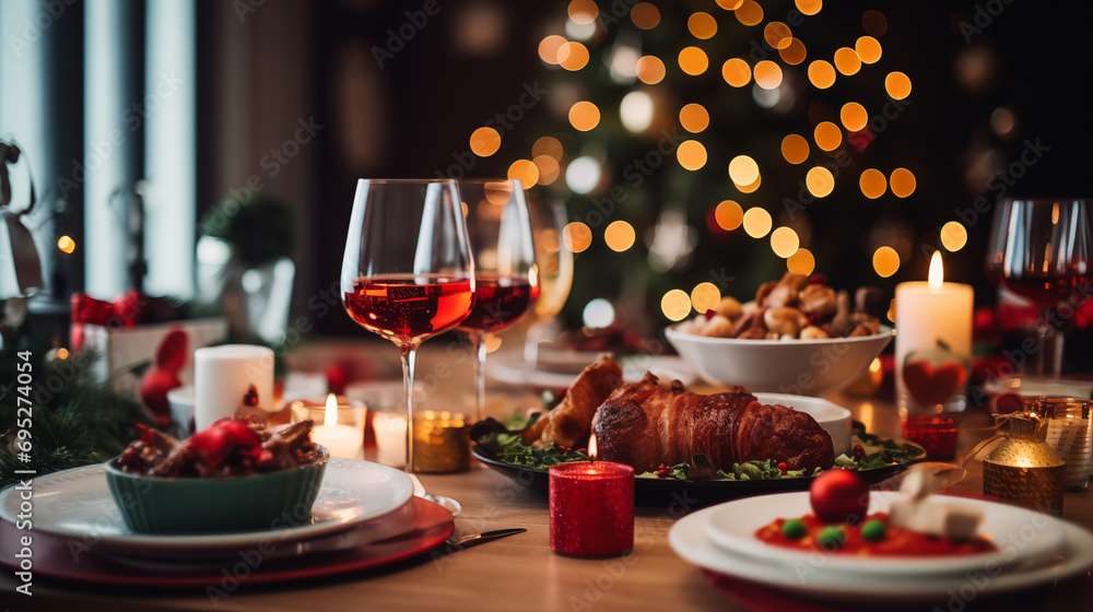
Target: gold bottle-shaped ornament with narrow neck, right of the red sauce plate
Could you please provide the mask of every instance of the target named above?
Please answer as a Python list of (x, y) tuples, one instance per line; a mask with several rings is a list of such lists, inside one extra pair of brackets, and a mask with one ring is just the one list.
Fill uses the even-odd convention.
[(1067, 464), (1044, 439), (1036, 413), (1009, 415), (1002, 444), (983, 459), (983, 494), (1053, 515), (1062, 514)]

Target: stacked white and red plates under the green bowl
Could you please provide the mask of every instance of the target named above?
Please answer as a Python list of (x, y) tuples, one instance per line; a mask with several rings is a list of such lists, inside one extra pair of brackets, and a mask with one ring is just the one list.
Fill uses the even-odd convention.
[[(32, 537), (35, 574), (102, 584), (261, 582), (364, 569), (432, 550), (454, 529), (448, 510), (413, 496), (408, 475), (351, 459), (329, 461), (309, 520), (260, 531), (133, 533), (103, 466), (34, 479), (31, 491), (31, 529), (20, 520), (21, 491), (0, 493), (3, 541)], [(17, 552), (4, 546), (0, 564), (17, 567)]]

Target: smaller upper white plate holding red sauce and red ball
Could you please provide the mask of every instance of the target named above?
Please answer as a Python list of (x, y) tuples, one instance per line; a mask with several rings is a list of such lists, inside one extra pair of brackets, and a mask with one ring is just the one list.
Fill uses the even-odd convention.
[[(706, 534), (713, 542), (727, 551), (754, 557), (769, 563), (780, 563), (792, 570), (808, 566), (822, 557), (824, 569), (847, 575), (900, 574), (938, 575), (963, 574), (983, 568), (986, 564), (999, 567), (1018, 561), (1022, 555), (1046, 555), (1057, 549), (1062, 539), (1062, 527), (1058, 520), (1048, 520), (1043, 514), (1015, 506), (994, 504), (982, 499), (935, 496), (939, 503), (975, 506), (983, 510), (984, 519), (979, 533), (990, 539), (998, 550), (974, 555), (930, 556), (930, 557), (882, 557), (856, 556), (821, 550), (799, 551), (767, 544), (755, 538), (755, 531), (777, 517), (799, 518), (812, 511), (809, 493), (784, 493), (739, 499), (716, 506), (709, 513)], [(894, 491), (872, 492), (869, 511), (884, 513), (893, 501), (903, 498)], [(1020, 546), (1014, 550), (1014, 546)]]

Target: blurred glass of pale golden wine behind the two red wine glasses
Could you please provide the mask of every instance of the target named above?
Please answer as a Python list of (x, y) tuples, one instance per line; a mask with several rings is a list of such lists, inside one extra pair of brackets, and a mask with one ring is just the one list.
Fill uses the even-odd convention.
[(536, 260), (539, 262), (539, 302), (536, 320), (528, 326), (524, 344), (524, 361), (528, 369), (539, 367), (539, 343), (554, 325), (555, 317), (565, 306), (573, 286), (573, 251), (565, 246), (562, 232), (566, 220), (565, 204), (557, 199), (533, 199), (530, 202), (531, 228), (536, 240)]

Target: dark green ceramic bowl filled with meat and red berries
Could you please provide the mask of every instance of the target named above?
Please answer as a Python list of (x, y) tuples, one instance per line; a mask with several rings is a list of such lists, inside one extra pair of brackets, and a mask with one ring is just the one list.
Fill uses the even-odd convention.
[(106, 463), (118, 511), (137, 533), (214, 533), (277, 529), (307, 522), (330, 454), (314, 463), (247, 476), (153, 478)]

